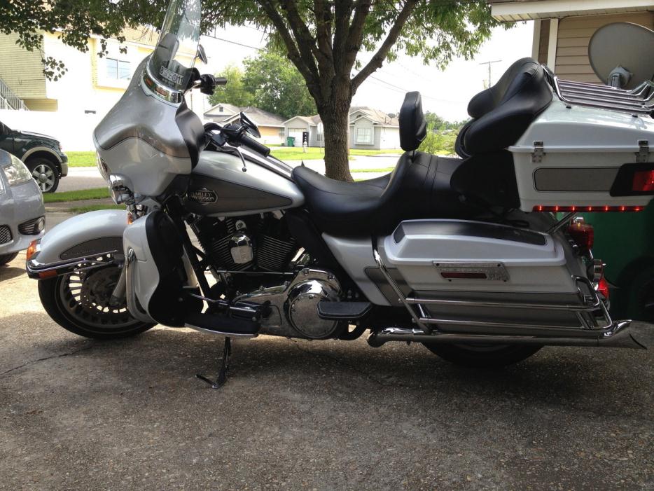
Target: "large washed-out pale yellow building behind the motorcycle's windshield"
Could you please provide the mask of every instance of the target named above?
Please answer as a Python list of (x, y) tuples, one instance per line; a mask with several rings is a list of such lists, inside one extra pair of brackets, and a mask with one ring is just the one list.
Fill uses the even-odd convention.
[[(88, 50), (81, 52), (58, 35), (43, 32), (41, 50), (30, 52), (16, 44), (17, 34), (0, 33), (0, 120), (9, 127), (50, 134), (69, 151), (93, 150), (93, 129), (123, 95), (159, 34), (151, 27), (125, 29), (125, 42), (107, 39), (108, 53), (102, 57), (99, 36), (90, 36)], [(178, 56), (190, 64), (195, 53), (180, 48)], [(67, 72), (57, 81), (48, 80), (41, 57), (61, 60)], [(193, 92), (187, 102), (201, 116), (206, 96)]]

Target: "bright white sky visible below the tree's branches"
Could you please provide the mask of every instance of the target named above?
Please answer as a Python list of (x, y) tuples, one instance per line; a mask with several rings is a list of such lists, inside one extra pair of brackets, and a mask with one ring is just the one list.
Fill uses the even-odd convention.
[[(480, 63), (501, 60), (492, 64), (492, 81), (497, 81), (515, 60), (531, 56), (533, 29), (534, 22), (521, 22), (508, 30), (497, 27), (473, 60), (454, 59), (444, 71), (426, 66), (419, 57), (401, 54), (396, 61), (385, 62), (361, 84), (352, 105), (398, 113), (405, 92), (418, 90), (424, 111), (450, 121), (464, 120), (468, 117), (468, 101), (484, 89), (488, 79), (488, 67)], [(198, 67), (200, 71), (215, 73), (228, 64), (239, 65), (245, 57), (258, 53), (246, 46), (265, 46), (265, 34), (253, 27), (226, 27), (216, 30), (214, 36), (205, 36), (201, 41), (209, 62), (206, 67)]]

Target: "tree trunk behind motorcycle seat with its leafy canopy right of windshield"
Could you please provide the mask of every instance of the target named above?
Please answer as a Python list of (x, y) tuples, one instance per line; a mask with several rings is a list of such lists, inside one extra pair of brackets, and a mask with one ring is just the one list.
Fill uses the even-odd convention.
[(436, 67), (471, 57), (498, 25), (487, 3), (475, 0), (211, 0), (207, 8), (216, 23), (270, 29), (272, 44), (286, 51), (316, 102), (326, 174), (342, 180), (352, 180), (349, 107), (368, 76), (400, 50)]

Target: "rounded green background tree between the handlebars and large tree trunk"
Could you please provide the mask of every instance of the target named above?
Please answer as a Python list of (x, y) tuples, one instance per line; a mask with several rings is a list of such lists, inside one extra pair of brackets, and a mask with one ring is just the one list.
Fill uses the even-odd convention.
[(243, 85), (253, 94), (257, 107), (286, 119), (316, 113), (316, 104), (304, 78), (286, 57), (262, 53), (247, 58), (244, 65)]

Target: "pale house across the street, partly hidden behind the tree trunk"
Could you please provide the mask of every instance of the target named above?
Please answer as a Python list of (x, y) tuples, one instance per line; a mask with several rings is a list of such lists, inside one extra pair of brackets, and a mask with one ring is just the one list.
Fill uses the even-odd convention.
[[(324, 146), (320, 116), (294, 116), (284, 121), (286, 137), (295, 138), (295, 146)], [(394, 114), (366, 106), (354, 106), (349, 111), (349, 148), (400, 148), (400, 124)]]

